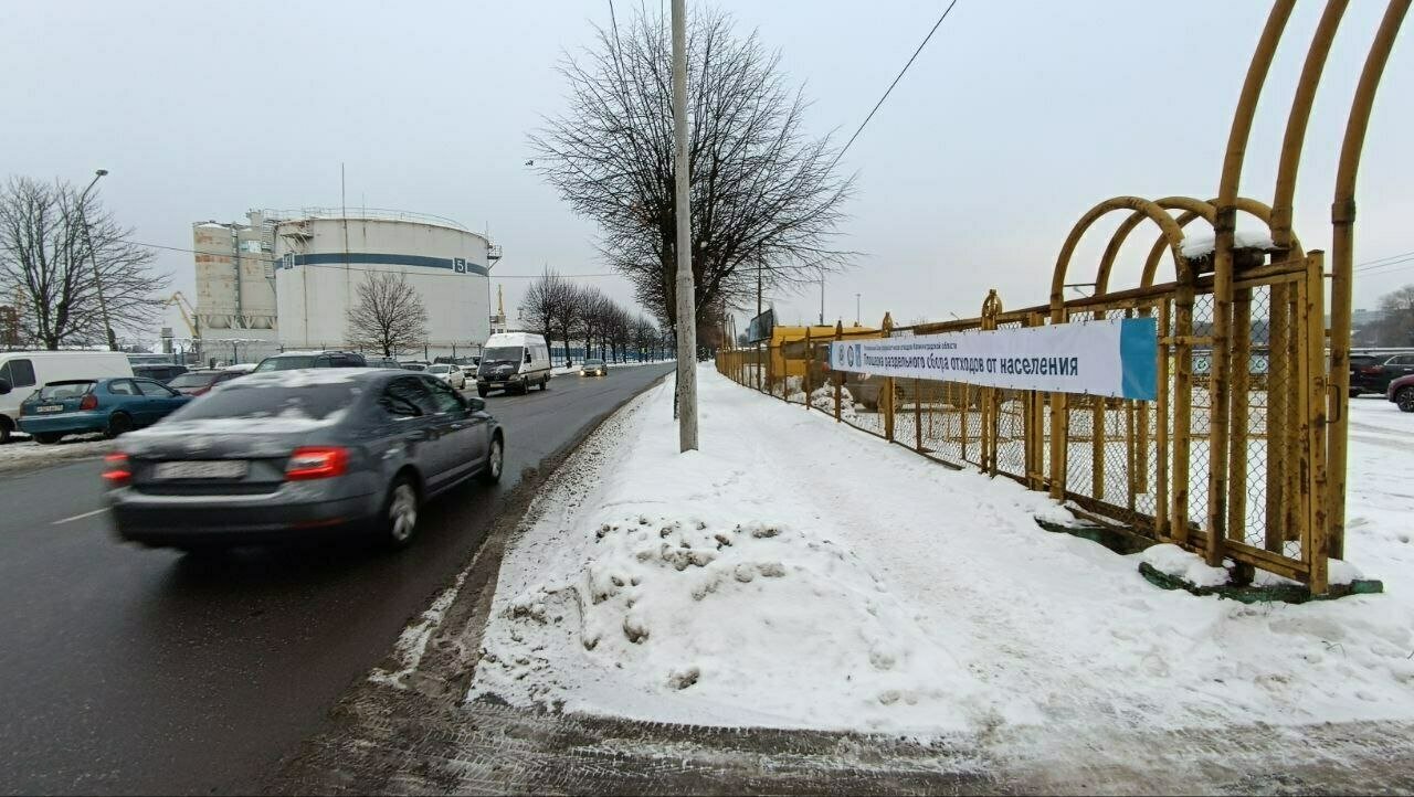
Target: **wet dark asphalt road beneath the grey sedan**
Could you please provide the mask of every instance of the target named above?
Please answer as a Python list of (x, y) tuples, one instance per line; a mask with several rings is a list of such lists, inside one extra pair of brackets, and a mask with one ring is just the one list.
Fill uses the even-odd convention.
[(123, 545), (99, 462), (0, 475), (0, 793), (249, 793), (468, 561), (522, 468), (670, 366), (488, 397), (506, 471), (399, 554)]

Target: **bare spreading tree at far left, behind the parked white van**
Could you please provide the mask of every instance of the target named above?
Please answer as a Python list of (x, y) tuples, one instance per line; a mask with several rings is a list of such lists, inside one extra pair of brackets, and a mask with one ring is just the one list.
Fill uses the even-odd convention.
[(106, 342), (99, 281), (115, 331), (150, 329), (170, 278), (132, 235), (96, 195), (11, 178), (0, 192), (0, 295), (16, 297), (20, 335), (47, 349)]

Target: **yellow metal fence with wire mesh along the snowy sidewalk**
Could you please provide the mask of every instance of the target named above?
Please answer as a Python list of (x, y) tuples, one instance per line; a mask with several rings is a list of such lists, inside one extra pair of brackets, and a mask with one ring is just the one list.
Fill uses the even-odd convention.
[[(1328, 380), (1321, 257), (1263, 263), (1239, 276), (1234, 343), (1223, 373), (1209, 365), (1212, 339), (1193, 333), (1212, 328), (1210, 276), (1196, 277), (1188, 291), (1169, 283), (1073, 300), (1060, 312), (1004, 312), (991, 294), (977, 318), (894, 326), (885, 317), (882, 324), (885, 336), (909, 336), (1152, 317), (1159, 338), (1155, 401), (834, 372), (829, 346), (851, 339), (844, 328), (824, 339), (724, 349), (717, 367), (768, 396), (936, 462), (1046, 490), (1155, 541), (1208, 551), (1209, 530), (1217, 529), (1220, 557), (1236, 562), (1239, 575), (1266, 569), (1324, 591), (1328, 541), (1319, 536), (1331, 530), (1315, 517), (1325, 485), (1312, 461), (1324, 449), (1314, 430)], [(1229, 434), (1217, 448), (1212, 418), (1222, 389)], [(1210, 485), (1219, 456), (1227, 465), (1220, 495)]]

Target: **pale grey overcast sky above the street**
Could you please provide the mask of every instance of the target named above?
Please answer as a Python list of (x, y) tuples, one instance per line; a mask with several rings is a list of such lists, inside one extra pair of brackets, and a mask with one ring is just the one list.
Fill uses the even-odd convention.
[[(652, 11), (662, 3), (648, 1)], [(694, 0), (689, 0), (694, 4)], [(819, 133), (853, 133), (946, 0), (721, 0), (759, 30), (813, 98)], [(1243, 194), (1270, 199), (1282, 124), (1321, 4), (1301, 3), (1253, 131)], [(1384, 3), (1356, 0), (1307, 140), (1297, 232), (1329, 244), (1345, 116)], [(621, 16), (631, 3), (617, 4)], [(1093, 203), (1118, 194), (1216, 192), (1258, 0), (960, 0), (843, 164), (858, 174), (844, 244), (864, 256), (826, 285), (826, 317), (885, 309), (901, 322), (1046, 300), (1056, 252)], [(502, 274), (601, 273), (595, 229), (523, 165), (526, 131), (560, 112), (554, 64), (607, 23), (608, 0), (570, 3), (62, 1), (0, 6), (0, 174), (83, 184), (143, 242), (188, 247), (191, 222), (247, 208), (402, 208), (489, 225)], [(1414, 47), (1394, 49), (1359, 187), (1356, 261), (1414, 250)], [(1118, 222), (1118, 216), (1113, 219)], [(1076, 257), (1087, 281), (1113, 223)], [(1137, 278), (1134, 236), (1116, 285)], [(191, 256), (158, 260), (192, 288)], [(626, 284), (594, 278), (624, 301)], [(526, 280), (506, 285), (508, 305)], [(1356, 307), (1414, 283), (1414, 261), (1356, 280)], [(783, 322), (819, 293), (773, 295)], [(513, 312), (513, 311), (512, 311)]]

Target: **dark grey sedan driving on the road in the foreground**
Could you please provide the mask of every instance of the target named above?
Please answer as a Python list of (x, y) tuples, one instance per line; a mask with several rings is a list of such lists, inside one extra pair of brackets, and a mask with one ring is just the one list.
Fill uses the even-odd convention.
[(409, 544), (424, 502), (501, 479), (505, 432), (424, 373), (253, 373), (123, 439), (107, 502), (123, 540), (204, 548), (372, 530)]

